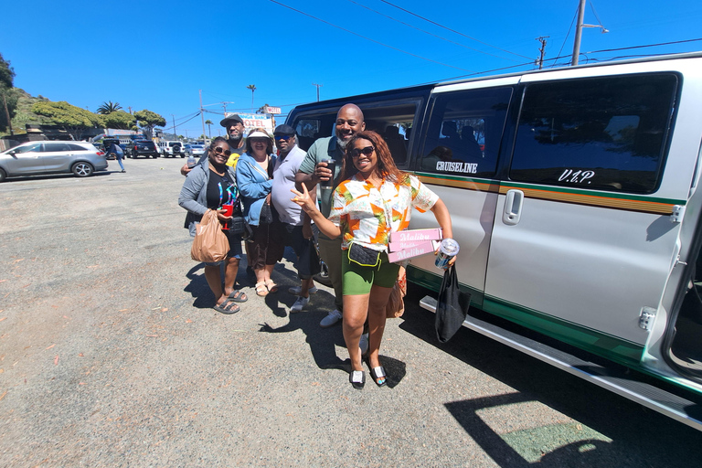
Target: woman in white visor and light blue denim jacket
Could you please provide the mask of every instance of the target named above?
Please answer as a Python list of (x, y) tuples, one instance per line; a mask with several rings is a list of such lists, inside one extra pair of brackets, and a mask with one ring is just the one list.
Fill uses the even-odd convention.
[(246, 138), (246, 153), (239, 156), (237, 183), (244, 203), (244, 217), (253, 235), (248, 246), (249, 266), (256, 274), (256, 294), (278, 291), (271, 280), (275, 264), (285, 250), (282, 224), (271, 204), (273, 166), (276, 157), (271, 135), (254, 129)]

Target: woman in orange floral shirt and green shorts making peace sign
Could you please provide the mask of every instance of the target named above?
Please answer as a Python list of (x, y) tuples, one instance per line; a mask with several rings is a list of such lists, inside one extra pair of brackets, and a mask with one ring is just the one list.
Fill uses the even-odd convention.
[(351, 358), (349, 381), (354, 388), (363, 388), (366, 382), (358, 342), (368, 318), (368, 367), (371, 378), (382, 387), (388, 380), (378, 350), (385, 329), (386, 304), (399, 272), (399, 265), (388, 261), (389, 233), (407, 229), (411, 208), (415, 207), (431, 210), (443, 236), (452, 238), (451, 215), (416, 176), (397, 168), (388, 145), (375, 132), (359, 132), (348, 141), (341, 180), (328, 219), (317, 209), (306, 186), (303, 193), (293, 190), (293, 201), (326, 236), (342, 236), (343, 328)]

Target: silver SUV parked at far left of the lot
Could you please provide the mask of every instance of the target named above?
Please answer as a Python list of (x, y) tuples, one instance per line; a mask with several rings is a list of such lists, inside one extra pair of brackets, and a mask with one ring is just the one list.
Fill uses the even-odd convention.
[(0, 182), (7, 177), (71, 172), (87, 177), (106, 169), (105, 152), (85, 142), (28, 142), (0, 153)]

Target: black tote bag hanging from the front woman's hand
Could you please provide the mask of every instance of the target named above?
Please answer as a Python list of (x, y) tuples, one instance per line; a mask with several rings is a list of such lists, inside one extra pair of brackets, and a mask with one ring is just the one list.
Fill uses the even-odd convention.
[(441, 343), (449, 341), (463, 325), (471, 294), (463, 293), (458, 287), (456, 267), (452, 266), (443, 273), (439, 300), (436, 304), (436, 337)]

